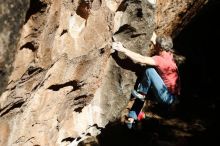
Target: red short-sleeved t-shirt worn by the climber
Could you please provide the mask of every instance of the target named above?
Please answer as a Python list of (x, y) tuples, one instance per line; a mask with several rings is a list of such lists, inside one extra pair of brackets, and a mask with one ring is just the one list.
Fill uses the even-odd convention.
[(173, 60), (173, 54), (162, 51), (160, 55), (152, 57), (156, 62), (156, 70), (163, 79), (168, 90), (174, 95), (180, 94), (178, 68)]

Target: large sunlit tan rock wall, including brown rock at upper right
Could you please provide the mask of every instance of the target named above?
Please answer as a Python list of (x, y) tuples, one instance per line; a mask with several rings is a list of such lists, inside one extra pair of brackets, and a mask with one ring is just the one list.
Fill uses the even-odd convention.
[(144, 54), (154, 30), (176, 32), (205, 3), (166, 2), (30, 1), (0, 97), (0, 145), (76, 145), (119, 119), (140, 67), (111, 54), (111, 42)]

